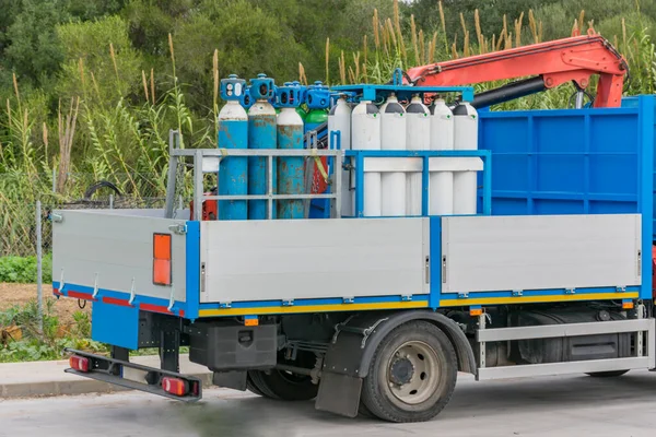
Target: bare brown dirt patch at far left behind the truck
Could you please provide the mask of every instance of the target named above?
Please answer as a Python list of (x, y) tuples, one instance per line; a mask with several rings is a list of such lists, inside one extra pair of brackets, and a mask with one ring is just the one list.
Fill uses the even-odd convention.
[[(52, 287), (50, 284), (44, 284), (44, 303), (45, 299), (55, 302), (52, 309), (55, 315), (59, 317), (62, 324), (70, 324), (73, 321), (75, 311), (87, 311), (91, 314), (91, 304), (86, 303), (84, 309), (78, 306), (78, 299), (59, 298), (52, 296)], [(36, 284), (9, 284), (0, 283), (0, 310), (10, 308), (14, 305), (25, 305), (30, 300), (36, 300)]]

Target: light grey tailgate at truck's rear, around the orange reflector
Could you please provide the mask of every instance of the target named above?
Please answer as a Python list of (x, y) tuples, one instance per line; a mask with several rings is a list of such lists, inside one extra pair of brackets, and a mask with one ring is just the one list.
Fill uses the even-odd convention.
[(153, 233), (172, 235), (172, 265), (175, 300), (186, 300), (186, 239), (168, 229), (185, 223), (149, 215), (137, 210), (110, 213), (57, 211), (63, 222), (52, 224), (52, 280), (63, 270), (66, 284), (134, 293), (168, 299), (172, 287), (153, 284)]

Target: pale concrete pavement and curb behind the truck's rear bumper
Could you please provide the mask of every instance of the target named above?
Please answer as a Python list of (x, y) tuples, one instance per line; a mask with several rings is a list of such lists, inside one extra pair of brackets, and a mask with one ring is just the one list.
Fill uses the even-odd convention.
[[(131, 362), (144, 366), (159, 367), (157, 356), (138, 356)], [(34, 395), (62, 395), (83, 393), (107, 393), (125, 389), (107, 382), (66, 374), (68, 361), (0, 364), (0, 398), (22, 398)], [(188, 355), (180, 355), (180, 371), (211, 382), (207, 367), (189, 362)]]

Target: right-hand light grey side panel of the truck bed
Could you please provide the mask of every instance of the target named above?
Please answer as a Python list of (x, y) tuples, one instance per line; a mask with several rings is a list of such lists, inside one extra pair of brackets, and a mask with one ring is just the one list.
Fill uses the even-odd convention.
[(641, 216), (442, 218), (443, 293), (640, 285)]

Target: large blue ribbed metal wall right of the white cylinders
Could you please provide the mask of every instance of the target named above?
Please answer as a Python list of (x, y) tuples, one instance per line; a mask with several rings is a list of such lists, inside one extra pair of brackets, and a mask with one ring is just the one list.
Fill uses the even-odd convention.
[(479, 149), (494, 163), (492, 214), (642, 213), (641, 297), (651, 297), (654, 97), (621, 108), (481, 111), (479, 119)]

